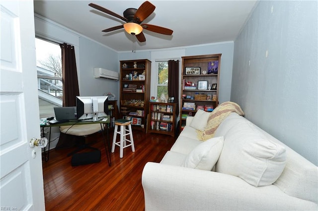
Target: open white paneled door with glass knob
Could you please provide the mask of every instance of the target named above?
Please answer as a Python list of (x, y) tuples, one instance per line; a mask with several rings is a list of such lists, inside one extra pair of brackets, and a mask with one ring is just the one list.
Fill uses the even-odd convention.
[(0, 21), (0, 210), (43, 211), (33, 0), (0, 0)]

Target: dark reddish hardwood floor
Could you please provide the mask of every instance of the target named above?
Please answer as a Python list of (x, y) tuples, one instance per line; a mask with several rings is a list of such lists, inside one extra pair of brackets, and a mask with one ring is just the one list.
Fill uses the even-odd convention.
[[(109, 132), (111, 143), (113, 132)], [(135, 152), (119, 147), (111, 153), (109, 167), (101, 134), (88, 137), (101, 150), (101, 162), (72, 167), (74, 148), (52, 149), (48, 162), (43, 161), (46, 211), (143, 211), (144, 192), (141, 175), (149, 161), (159, 162), (176, 138), (133, 131)], [(117, 136), (119, 138), (119, 136)]]

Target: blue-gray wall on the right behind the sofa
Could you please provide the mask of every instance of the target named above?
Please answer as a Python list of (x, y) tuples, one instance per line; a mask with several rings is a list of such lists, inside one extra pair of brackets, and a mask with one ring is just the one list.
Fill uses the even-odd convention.
[(317, 9), (317, 1), (259, 1), (235, 41), (231, 91), (247, 119), (316, 165)]

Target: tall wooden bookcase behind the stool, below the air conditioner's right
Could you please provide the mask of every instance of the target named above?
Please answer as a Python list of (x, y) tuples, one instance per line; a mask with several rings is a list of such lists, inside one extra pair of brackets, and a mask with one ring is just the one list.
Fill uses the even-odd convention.
[(146, 132), (150, 101), (151, 61), (120, 61), (120, 117)]

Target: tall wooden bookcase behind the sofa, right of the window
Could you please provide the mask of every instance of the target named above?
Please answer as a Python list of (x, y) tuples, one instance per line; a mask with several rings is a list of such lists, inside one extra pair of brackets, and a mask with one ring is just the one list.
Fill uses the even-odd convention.
[[(186, 123), (187, 116), (194, 116), (198, 106), (213, 107), (216, 108), (219, 104), (219, 81), (220, 81), (220, 67), (221, 67), (221, 55), (200, 55), (200, 56), (187, 56), (182, 57), (182, 76), (181, 76), (181, 99), (180, 99), (180, 131)], [(208, 73), (209, 63), (218, 62), (217, 73)], [(198, 72), (186, 73), (186, 69), (200, 68)], [(198, 81), (208, 81), (207, 89), (198, 89)], [(196, 87), (185, 87), (191, 82)], [(216, 88), (208, 89), (209, 85), (216, 84)], [(212, 88), (212, 87), (211, 87)], [(214, 87), (213, 87), (214, 88)], [(213, 97), (214, 96), (214, 97)], [(184, 105), (194, 104), (194, 110), (185, 109)], [(208, 109), (211, 111), (211, 109)]]

